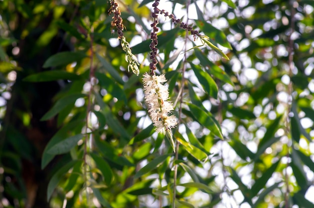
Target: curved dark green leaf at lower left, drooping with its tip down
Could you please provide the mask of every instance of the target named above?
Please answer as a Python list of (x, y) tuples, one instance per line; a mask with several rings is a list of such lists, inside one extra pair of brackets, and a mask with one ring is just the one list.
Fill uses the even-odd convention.
[(47, 188), (47, 201), (49, 201), (53, 190), (57, 187), (59, 181), (61, 180), (61, 178), (63, 177), (63, 175), (69, 171), (70, 168), (72, 168), (76, 163), (78, 162), (82, 162), (80, 160), (72, 160), (70, 162), (68, 162), (66, 165), (64, 165), (63, 167), (61, 167), (50, 179), (49, 183), (48, 183), (48, 188)]

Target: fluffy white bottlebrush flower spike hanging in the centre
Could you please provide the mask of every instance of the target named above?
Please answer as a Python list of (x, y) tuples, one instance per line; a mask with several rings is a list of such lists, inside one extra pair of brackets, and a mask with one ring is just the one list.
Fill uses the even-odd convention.
[(170, 115), (174, 107), (169, 101), (168, 88), (163, 84), (167, 81), (165, 74), (157, 76), (145, 73), (143, 76), (145, 102), (148, 105), (149, 116), (156, 132), (166, 134), (175, 151), (171, 129), (176, 127), (177, 118), (175, 115)]

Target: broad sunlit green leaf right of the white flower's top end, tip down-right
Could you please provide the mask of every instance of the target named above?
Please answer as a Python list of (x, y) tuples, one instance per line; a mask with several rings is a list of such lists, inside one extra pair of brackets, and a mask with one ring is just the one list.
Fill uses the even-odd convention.
[(203, 71), (201, 67), (194, 65), (192, 63), (190, 64), (196, 77), (198, 78), (199, 82), (202, 84), (207, 94), (217, 99), (218, 86), (216, 82), (214, 81), (214, 79), (208, 73)]

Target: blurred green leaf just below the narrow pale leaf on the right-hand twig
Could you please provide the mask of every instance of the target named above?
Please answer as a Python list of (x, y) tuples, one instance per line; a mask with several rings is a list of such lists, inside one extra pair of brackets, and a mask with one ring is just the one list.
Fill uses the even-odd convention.
[(194, 49), (195, 55), (197, 58), (200, 60), (200, 64), (203, 65), (204, 67), (207, 67), (206, 72), (208, 72), (210, 75), (215, 76), (216, 78), (229, 83), (231, 85), (234, 85), (233, 82), (231, 81), (231, 78), (229, 75), (221, 69), (218, 65), (214, 64), (212, 61), (210, 61), (207, 56), (199, 49), (196, 48)]

